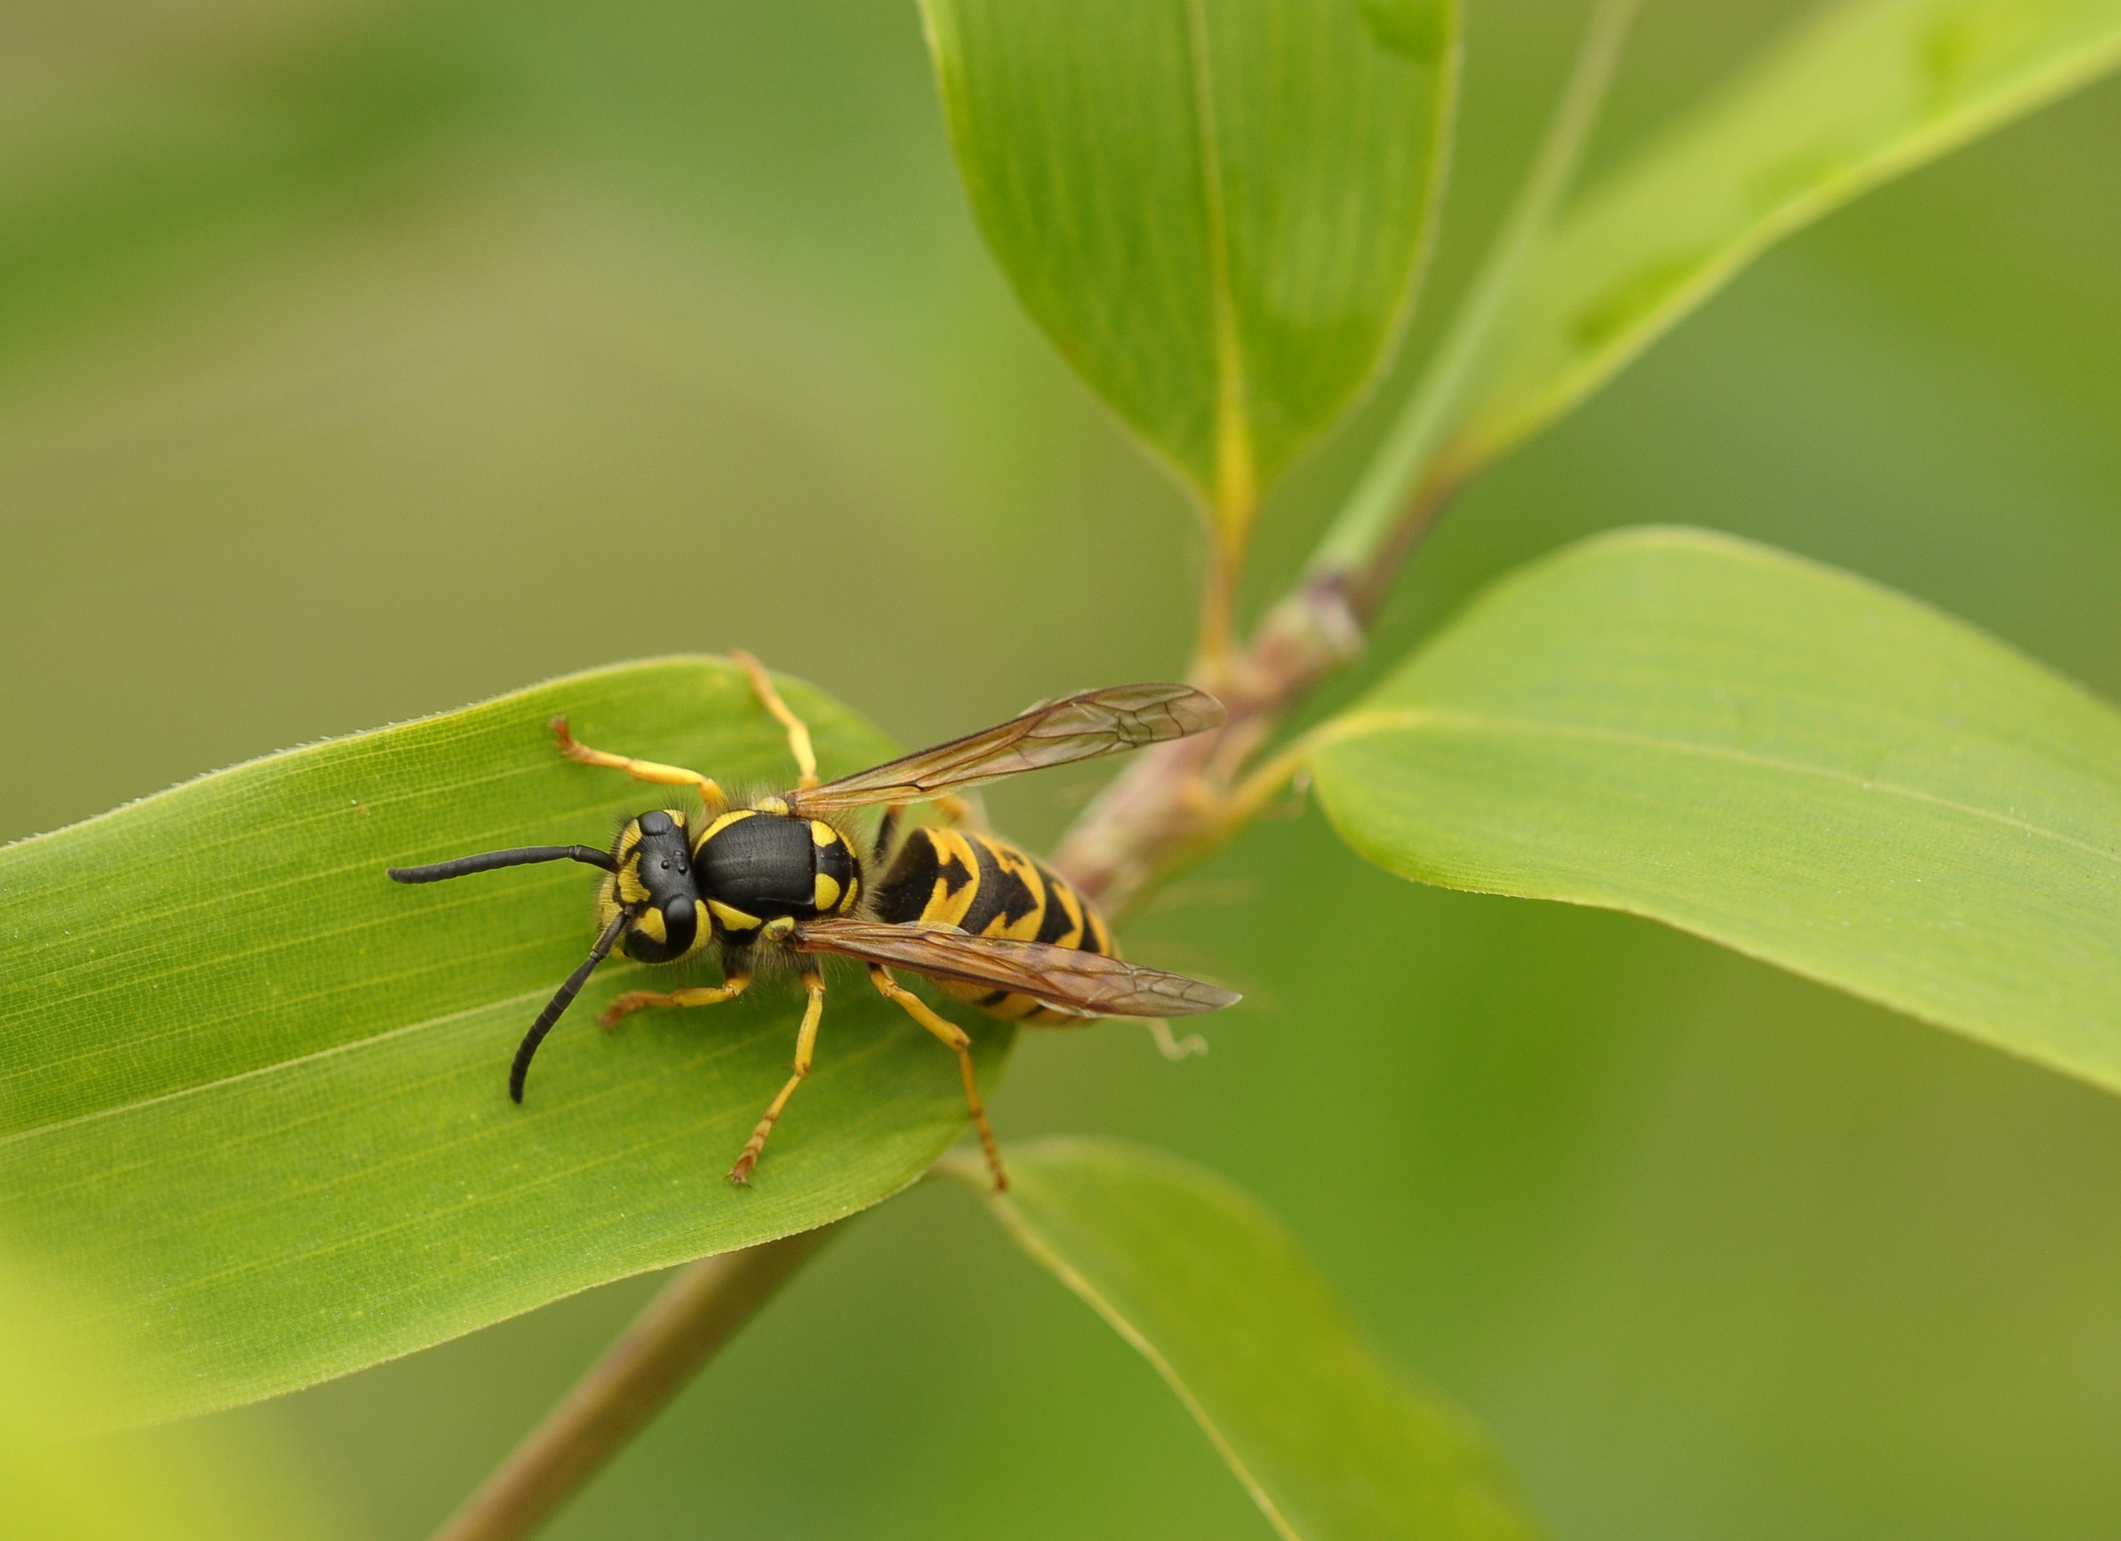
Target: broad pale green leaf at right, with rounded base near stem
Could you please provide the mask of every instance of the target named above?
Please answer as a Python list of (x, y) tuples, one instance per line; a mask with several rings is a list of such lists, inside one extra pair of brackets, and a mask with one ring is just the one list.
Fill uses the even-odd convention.
[(2121, 714), (1915, 600), (1601, 536), (1317, 744), (1396, 873), (1652, 916), (2121, 1090)]

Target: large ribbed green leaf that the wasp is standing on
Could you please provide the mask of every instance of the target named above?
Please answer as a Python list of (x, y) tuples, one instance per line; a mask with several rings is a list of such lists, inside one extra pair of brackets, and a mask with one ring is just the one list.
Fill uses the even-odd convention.
[[(827, 772), (893, 752), (789, 685)], [(515, 1041), (594, 939), (573, 863), (405, 888), (384, 867), (607, 844), (689, 793), (564, 763), (590, 744), (793, 780), (719, 659), (626, 663), (274, 755), (0, 850), (0, 1236), (138, 1338), (127, 1416), (373, 1365), (624, 1274), (785, 1236), (914, 1181), (963, 1128), (950, 1056), (831, 975), (817, 1070), (753, 1187), (723, 1181), (787, 1077), (800, 996), (598, 1032), (611, 960)], [(683, 975), (677, 975), (683, 977)], [(708, 977), (711, 971), (708, 971)], [(974, 1026), (984, 1075), (1007, 1032)]]

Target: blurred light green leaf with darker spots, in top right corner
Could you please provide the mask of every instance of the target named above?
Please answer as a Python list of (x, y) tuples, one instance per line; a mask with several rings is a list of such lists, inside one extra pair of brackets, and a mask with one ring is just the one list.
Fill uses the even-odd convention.
[(2121, 61), (2121, 0), (1852, 0), (1587, 191), (1525, 267), (1449, 475), (1597, 390), (1784, 235)]

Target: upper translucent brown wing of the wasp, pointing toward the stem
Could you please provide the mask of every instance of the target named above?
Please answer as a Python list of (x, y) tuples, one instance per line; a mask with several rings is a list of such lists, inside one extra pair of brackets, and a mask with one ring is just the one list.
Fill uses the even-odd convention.
[(789, 793), (789, 812), (910, 803), (963, 786), (1118, 755), (1222, 725), (1222, 702), (1192, 685), (1114, 685), (1033, 706), (984, 733), (954, 738), (823, 786)]

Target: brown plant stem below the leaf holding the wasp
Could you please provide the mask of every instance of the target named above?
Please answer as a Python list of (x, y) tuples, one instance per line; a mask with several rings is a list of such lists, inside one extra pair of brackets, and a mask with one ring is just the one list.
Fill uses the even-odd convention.
[(537, 1533), (838, 1227), (687, 1263), (435, 1541)]

